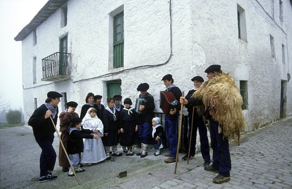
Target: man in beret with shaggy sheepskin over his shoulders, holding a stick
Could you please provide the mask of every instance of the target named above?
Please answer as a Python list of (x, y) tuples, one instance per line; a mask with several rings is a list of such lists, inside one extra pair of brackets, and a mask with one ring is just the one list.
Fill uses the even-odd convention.
[[(241, 110), (243, 103), (234, 79), (221, 71), (220, 65), (211, 65), (206, 70), (208, 81), (187, 100), (181, 97), (180, 102), (192, 106), (204, 105), (204, 116), (209, 120), (211, 148), (213, 149), (212, 165), (204, 167), (207, 171), (218, 172), (214, 183), (230, 181), (231, 158), (229, 138), (240, 143), (240, 132), (245, 129)], [(236, 119), (235, 119), (236, 117)]]

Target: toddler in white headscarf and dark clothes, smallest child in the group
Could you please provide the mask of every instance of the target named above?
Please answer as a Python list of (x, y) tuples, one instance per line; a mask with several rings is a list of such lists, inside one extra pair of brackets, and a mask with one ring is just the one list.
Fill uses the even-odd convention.
[(160, 125), (160, 118), (154, 117), (152, 119), (152, 138), (154, 140), (153, 147), (156, 150), (154, 155), (160, 155), (160, 149), (163, 148), (164, 143), (164, 131), (163, 126)]

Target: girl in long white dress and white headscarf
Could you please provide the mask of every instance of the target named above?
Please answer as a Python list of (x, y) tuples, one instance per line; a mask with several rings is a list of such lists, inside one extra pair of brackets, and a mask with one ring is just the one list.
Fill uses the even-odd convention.
[[(103, 124), (96, 115), (96, 109), (88, 109), (86, 115), (82, 119), (83, 129), (97, 130), (95, 135), (103, 136)], [(107, 158), (101, 139), (84, 139), (84, 151), (81, 157), (81, 163), (91, 164), (98, 163)]]

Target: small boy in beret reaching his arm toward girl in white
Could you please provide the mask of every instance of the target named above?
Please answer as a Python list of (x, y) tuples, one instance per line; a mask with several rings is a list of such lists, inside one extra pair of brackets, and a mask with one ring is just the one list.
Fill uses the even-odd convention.
[[(100, 139), (100, 136), (91, 135), (92, 132), (96, 133), (97, 131), (80, 129), (82, 120), (79, 117), (71, 118), (70, 122), (70, 135), (67, 146), (70, 162), (75, 172), (83, 172), (85, 170), (81, 169), (79, 164), (80, 153), (83, 152), (82, 138)], [(68, 176), (74, 176), (72, 168), (69, 169)]]

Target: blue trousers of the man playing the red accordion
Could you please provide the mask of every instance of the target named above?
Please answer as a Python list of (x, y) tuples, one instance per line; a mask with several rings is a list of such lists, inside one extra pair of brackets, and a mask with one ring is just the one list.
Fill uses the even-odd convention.
[(172, 157), (176, 157), (178, 150), (178, 118), (178, 113), (173, 117), (164, 115), (165, 132), (169, 141), (169, 153)]

